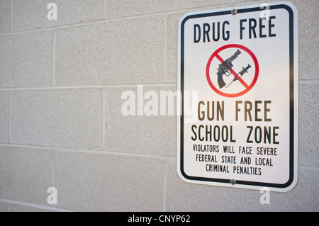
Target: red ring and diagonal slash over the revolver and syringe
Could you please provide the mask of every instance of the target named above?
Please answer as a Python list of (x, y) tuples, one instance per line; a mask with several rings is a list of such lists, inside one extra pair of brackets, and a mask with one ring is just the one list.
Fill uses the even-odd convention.
[[(217, 89), (213, 85), (213, 83), (211, 82), (211, 77), (209, 75), (209, 69), (211, 67), (211, 62), (212, 62), (213, 58), (216, 57), (221, 63), (223, 63), (224, 60), (220, 57), (220, 55), (218, 55), (218, 53), (220, 51), (228, 49), (228, 48), (239, 48), (241, 50), (245, 50), (250, 55), (250, 57), (252, 57), (252, 60), (254, 61), (255, 72), (254, 72), (254, 79), (252, 80), (252, 83), (250, 85), (248, 85), (241, 78), (238, 78), (238, 81), (240, 81), (240, 83), (243, 86), (245, 86), (245, 90), (240, 91), (237, 94), (226, 94), (226, 93), (223, 93), (222, 91), (220, 91), (219, 89)], [(233, 71), (232, 74), (234, 76), (236, 76), (237, 73)], [(225, 97), (237, 97), (237, 96), (242, 96), (242, 95), (246, 94), (248, 91), (250, 91), (250, 89), (252, 89), (254, 84), (256, 84), (256, 81), (258, 79), (258, 74), (259, 74), (259, 64), (258, 64), (257, 58), (254, 55), (254, 53), (250, 49), (248, 49), (247, 47), (245, 47), (243, 45), (237, 45), (237, 44), (224, 45), (223, 47), (220, 47), (218, 50), (216, 50), (213, 53), (213, 55), (211, 55), (211, 57), (208, 60), (207, 66), (206, 66), (206, 78), (207, 78), (209, 86), (211, 86), (211, 89), (213, 89), (213, 91), (216, 91), (217, 94), (220, 94), (221, 96), (225, 96)]]

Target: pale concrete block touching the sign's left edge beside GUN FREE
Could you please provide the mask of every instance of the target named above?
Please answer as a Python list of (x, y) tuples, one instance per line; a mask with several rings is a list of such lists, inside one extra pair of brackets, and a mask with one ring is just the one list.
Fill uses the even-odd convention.
[[(138, 109), (147, 108), (149, 102), (148, 99), (143, 101), (143, 94), (138, 93), (138, 86), (106, 89), (106, 149), (175, 156), (177, 149), (177, 116), (176, 112), (169, 115), (168, 111), (161, 115), (160, 95), (161, 91), (174, 92), (176, 89), (173, 86), (143, 86), (139, 89), (140, 93), (146, 94), (147, 91), (152, 91), (157, 95), (155, 100), (158, 100), (158, 104), (155, 106), (158, 106), (158, 111), (154, 112), (158, 115), (145, 115), (144, 111), (142, 111), (143, 115), (138, 115), (138, 111), (140, 111)], [(125, 95), (123, 96), (124, 99), (121, 99), (125, 91), (130, 91), (135, 95), (135, 106), (133, 106), (133, 108), (135, 107), (135, 115), (123, 115), (122, 113), (123, 104), (130, 100), (130, 97)], [(139, 96), (142, 97), (142, 104), (138, 103)], [(174, 103), (169, 103), (167, 98), (166, 110), (169, 107), (175, 110), (176, 104), (176, 98)]]

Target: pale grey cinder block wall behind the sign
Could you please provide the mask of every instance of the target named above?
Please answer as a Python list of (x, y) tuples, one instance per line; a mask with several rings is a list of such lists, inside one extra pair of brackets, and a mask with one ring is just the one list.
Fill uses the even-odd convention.
[(292, 1), (298, 183), (269, 205), (259, 191), (181, 181), (176, 116), (121, 113), (123, 91), (177, 89), (184, 13), (252, 2), (263, 1), (0, 0), (0, 211), (318, 211), (317, 0)]

